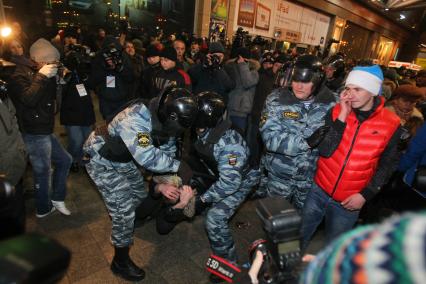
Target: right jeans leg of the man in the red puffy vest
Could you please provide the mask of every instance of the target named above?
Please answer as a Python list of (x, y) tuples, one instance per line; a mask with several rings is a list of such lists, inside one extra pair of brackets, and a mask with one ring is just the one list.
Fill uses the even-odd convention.
[(326, 241), (330, 243), (346, 231), (353, 228), (358, 220), (359, 210), (349, 211), (340, 202), (332, 201), (326, 209), (325, 232)]

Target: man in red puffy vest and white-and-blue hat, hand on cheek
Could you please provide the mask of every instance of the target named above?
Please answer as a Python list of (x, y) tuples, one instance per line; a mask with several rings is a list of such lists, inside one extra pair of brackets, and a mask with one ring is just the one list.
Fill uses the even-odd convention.
[(302, 250), (323, 218), (327, 242), (350, 230), (397, 166), (400, 121), (378, 96), (382, 81), (379, 66), (355, 67), (340, 103), (310, 137), (320, 158), (302, 211)]

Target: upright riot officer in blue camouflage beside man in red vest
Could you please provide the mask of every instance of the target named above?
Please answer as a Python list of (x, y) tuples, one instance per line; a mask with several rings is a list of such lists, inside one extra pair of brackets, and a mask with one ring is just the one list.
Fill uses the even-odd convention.
[(323, 79), (316, 56), (298, 57), (290, 70), (290, 83), (268, 96), (260, 121), (267, 175), (261, 188), (269, 196), (287, 198), (298, 209), (312, 186), (318, 157), (316, 141), (309, 138), (324, 124), (335, 102), (333, 93), (322, 85)]

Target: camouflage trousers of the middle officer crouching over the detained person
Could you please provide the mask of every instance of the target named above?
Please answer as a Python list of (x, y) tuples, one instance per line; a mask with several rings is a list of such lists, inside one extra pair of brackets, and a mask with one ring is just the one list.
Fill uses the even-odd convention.
[(260, 172), (258, 170), (250, 171), (247, 176), (243, 177), (243, 184), (237, 192), (213, 204), (207, 211), (206, 230), (210, 247), (215, 255), (231, 262), (237, 262), (237, 251), (229, 228), (229, 220), (253, 186), (258, 183), (259, 177)]

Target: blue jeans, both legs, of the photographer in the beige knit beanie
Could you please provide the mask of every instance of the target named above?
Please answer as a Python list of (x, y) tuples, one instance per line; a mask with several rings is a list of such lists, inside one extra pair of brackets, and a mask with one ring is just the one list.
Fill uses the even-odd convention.
[[(72, 158), (53, 134), (23, 134), (23, 138), (33, 167), (37, 214), (45, 214), (52, 207), (49, 200), (50, 185), (52, 185), (52, 200), (65, 199), (66, 181)], [(53, 175), (52, 163), (55, 167)]]

